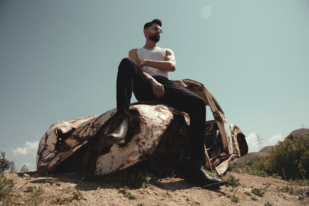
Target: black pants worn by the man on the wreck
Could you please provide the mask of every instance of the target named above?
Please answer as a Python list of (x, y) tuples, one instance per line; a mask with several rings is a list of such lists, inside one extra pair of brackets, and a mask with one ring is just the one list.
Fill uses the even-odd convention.
[(189, 149), (190, 158), (200, 159), (204, 156), (204, 135), (206, 107), (205, 101), (198, 95), (178, 86), (174, 81), (164, 77), (154, 77), (164, 86), (165, 94), (157, 98), (136, 62), (124, 58), (120, 62), (117, 75), (117, 113), (129, 116), (132, 92), (138, 101), (156, 100), (190, 115)]

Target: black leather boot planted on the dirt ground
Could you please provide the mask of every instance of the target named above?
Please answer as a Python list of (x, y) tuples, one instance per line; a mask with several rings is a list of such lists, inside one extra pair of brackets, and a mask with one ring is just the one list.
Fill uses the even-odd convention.
[(187, 180), (199, 184), (203, 189), (210, 189), (228, 184), (227, 181), (213, 178), (207, 174), (201, 161), (195, 159), (189, 159)]

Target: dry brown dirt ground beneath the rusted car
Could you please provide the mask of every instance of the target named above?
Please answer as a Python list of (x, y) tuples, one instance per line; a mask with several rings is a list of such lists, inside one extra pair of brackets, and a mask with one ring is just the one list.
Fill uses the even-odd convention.
[[(19, 195), (15, 203), (21, 205), (309, 205), (306, 195), (308, 187), (294, 186), (271, 177), (232, 172), (227, 172), (226, 175), (234, 175), (241, 185), (205, 190), (184, 179), (166, 178), (138, 188), (128, 186), (129, 190), (122, 193), (120, 188), (125, 188), (124, 183), (89, 182), (74, 176), (74, 173), (32, 174), (28, 177), (16, 173), (4, 174), (6, 178), (14, 180), (16, 194)], [(41, 188), (41, 192), (29, 192), (29, 188)], [(264, 192), (264, 196), (253, 194), (252, 189), (255, 188)], [(74, 193), (75, 197), (82, 198), (70, 199)], [(237, 198), (237, 203), (232, 201)], [(0, 202), (0, 205), (5, 203)]]

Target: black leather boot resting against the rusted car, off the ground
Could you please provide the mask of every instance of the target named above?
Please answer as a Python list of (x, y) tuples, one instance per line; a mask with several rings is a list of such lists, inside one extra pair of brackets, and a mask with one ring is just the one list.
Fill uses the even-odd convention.
[(125, 142), (125, 136), (128, 132), (129, 117), (120, 115), (115, 120), (115, 131), (106, 136), (105, 142), (107, 144), (121, 144)]

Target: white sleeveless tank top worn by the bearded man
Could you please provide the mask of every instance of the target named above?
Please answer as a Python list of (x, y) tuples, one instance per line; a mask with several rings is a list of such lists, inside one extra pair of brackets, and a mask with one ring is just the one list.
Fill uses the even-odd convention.
[[(146, 48), (139, 48), (137, 50), (137, 57), (138, 59), (149, 59), (154, 61), (165, 61), (166, 53), (165, 51), (157, 47), (155, 49), (149, 50)], [(156, 69), (150, 66), (143, 66), (142, 71), (146, 72), (150, 76), (163, 76), (170, 79), (169, 74), (167, 71), (162, 71), (160, 69)]]

